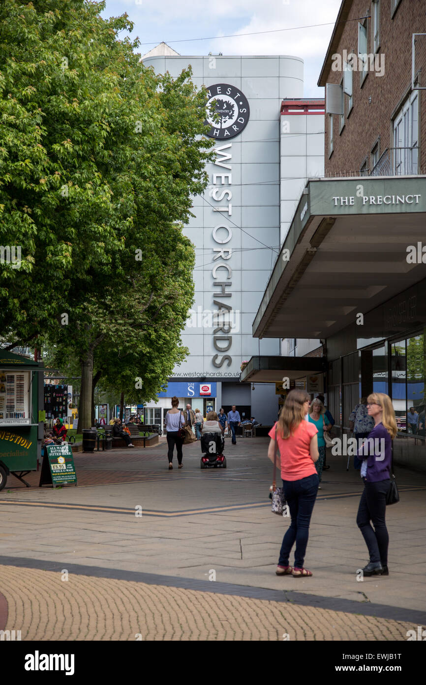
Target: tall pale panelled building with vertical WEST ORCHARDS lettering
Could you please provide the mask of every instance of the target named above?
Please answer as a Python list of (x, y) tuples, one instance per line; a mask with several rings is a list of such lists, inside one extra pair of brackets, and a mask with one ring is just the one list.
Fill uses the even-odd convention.
[[(289, 131), (282, 127), (283, 99), (302, 98), (303, 60), (151, 53), (143, 61), (172, 77), (191, 64), (194, 84), (206, 86), (219, 115), (209, 120), (209, 135), (217, 140), (215, 162), (207, 165), (209, 186), (194, 197), (194, 218), (185, 227), (196, 249), (195, 301), (182, 335), (189, 356), (174, 369), (159, 403), (148, 404), (148, 418), (156, 415), (159, 423), (159, 408), (162, 420), (168, 398), (177, 395), (202, 411), (236, 404), (244, 418), (272, 423), (275, 384), (253, 388), (241, 384), (239, 374), (253, 355), (280, 355), (280, 338), (254, 339), (252, 322), (306, 175), (321, 172), (312, 160), (320, 157), (323, 166), (323, 134), (310, 142), (318, 132), (308, 116), (303, 131), (295, 116), (288, 117)], [(315, 119), (322, 119), (323, 132), (323, 116)], [(210, 395), (203, 395), (203, 385), (211, 386)]]

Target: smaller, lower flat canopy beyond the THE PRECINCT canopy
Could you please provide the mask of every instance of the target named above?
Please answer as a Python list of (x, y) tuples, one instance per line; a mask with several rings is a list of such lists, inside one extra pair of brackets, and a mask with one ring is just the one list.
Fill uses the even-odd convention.
[(280, 383), (325, 371), (323, 357), (252, 357), (241, 371), (241, 382)]

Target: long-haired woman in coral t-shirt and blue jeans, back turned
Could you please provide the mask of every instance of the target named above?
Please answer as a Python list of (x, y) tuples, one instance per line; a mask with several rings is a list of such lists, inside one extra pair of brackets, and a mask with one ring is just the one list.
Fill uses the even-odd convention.
[[(282, 539), (277, 575), (291, 573), (294, 577), (310, 576), (304, 569), (309, 523), (319, 486), (315, 462), (318, 459), (317, 427), (305, 421), (309, 396), (304, 390), (291, 390), (280, 413), (278, 423), (269, 431), (271, 442), (268, 457), (274, 462), (275, 440), (281, 457), (281, 477), (284, 495), (290, 509), (291, 524)], [(296, 543), (295, 565), (289, 566), (291, 548)]]

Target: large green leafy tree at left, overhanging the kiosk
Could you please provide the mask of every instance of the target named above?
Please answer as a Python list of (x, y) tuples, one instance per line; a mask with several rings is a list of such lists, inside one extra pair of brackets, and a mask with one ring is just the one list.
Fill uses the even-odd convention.
[(49, 338), (78, 354), (80, 427), (103, 369), (96, 350), (114, 356), (120, 332), (163, 341), (168, 359), (150, 366), (159, 383), (183, 356), (194, 253), (181, 224), (214, 145), (191, 71), (146, 69), (137, 42), (118, 39), (133, 29), (127, 15), (105, 20), (104, 9), (0, 3), (0, 242), (21, 250), (19, 268), (0, 265), (0, 330), (8, 347)]

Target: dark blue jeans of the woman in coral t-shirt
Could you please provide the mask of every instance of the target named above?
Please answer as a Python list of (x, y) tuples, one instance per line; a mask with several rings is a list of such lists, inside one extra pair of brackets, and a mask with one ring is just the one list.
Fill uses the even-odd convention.
[(278, 565), (289, 565), (291, 548), (296, 543), (294, 565), (297, 569), (303, 569), (310, 517), (317, 497), (319, 477), (317, 473), (312, 473), (300, 480), (283, 480), (282, 486), (290, 509), (291, 524), (282, 538)]

